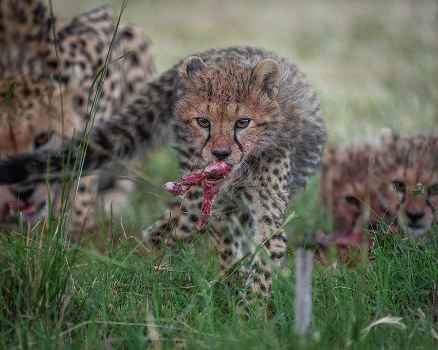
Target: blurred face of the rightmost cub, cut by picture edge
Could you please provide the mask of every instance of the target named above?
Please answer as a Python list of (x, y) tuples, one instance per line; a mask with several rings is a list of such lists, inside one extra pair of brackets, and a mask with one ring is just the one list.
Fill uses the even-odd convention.
[[(382, 139), (381, 157), (389, 171), (380, 190), (396, 210), (403, 236), (409, 231), (414, 238), (427, 237), (438, 223), (438, 133), (387, 132)], [(418, 184), (424, 193), (417, 192)]]

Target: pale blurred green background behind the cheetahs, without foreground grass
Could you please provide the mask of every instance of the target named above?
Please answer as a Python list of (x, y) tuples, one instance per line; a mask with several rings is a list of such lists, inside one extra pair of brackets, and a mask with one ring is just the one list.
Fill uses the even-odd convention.
[[(64, 18), (104, 4), (119, 13), (122, 0), (53, 0)], [(376, 139), (383, 127), (402, 134), (437, 128), (436, 0), (128, 0), (122, 19), (152, 38), (159, 72), (185, 56), (237, 44), (289, 57), (317, 92), (329, 146)], [(148, 184), (127, 212), (140, 226), (152, 224), (171, 198), (162, 184), (179, 173), (169, 147), (151, 155), (145, 174)], [(308, 222), (316, 179), (309, 187), (294, 199), (300, 219), (292, 231), (301, 231), (300, 222), (305, 231), (318, 225)]]

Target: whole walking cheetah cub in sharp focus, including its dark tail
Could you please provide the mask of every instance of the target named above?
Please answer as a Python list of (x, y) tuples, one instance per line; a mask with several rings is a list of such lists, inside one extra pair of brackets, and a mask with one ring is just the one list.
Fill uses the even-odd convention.
[[(212, 160), (231, 165), (231, 173), (219, 181), (207, 230), (222, 274), (226, 276), (246, 252), (252, 258), (250, 290), (268, 295), (271, 262), (279, 265), (285, 255), (287, 239), (281, 225), (289, 198), (306, 185), (324, 148), (321, 114), (306, 76), (286, 58), (254, 47), (231, 47), (188, 57), (164, 72), (123, 113), (96, 125), (92, 142), (118, 157), (132, 156), (172, 123), (183, 174)], [(88, 169), (109, 160), (92, 149), (87, 157)], [(51, 154), (55, 170), (56, 158), (59, 153)], [(7, 178), (15, 171), (28, 180), (36, 169), (47, 166), (38, 159), (47, 158), (27, 157), (33, 168), (23, 162), (17, 170), (16, 158), (15, 169), (0, 175), (0, 182), (11, 181)], [(7, 163), (0, 165), (0, 174), (3, 170), (8, 171)], [(199, 208), (201, 187), (190, 189), (186, 200)], [(196, 216), (172, 217), (169, 223), (169, 213), (149, 232), (154, 238), (150, 242), (161, 242), (156, 240), (160, 234), (196, 234)]]

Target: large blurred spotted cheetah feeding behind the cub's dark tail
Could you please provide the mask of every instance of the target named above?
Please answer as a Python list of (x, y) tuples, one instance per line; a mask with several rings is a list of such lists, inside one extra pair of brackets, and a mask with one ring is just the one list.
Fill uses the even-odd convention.
[[(96, 91), (90, 95), (90, 88), (111, 45), (113, 60), (129, 54), (108, 67), (96, 123), (129, 105), (155, 76), (151, 42), (140, 28), (120, 22), (111, 44), (118, 21), (109, 7), (88, 11), (70, 23), (56, 17), (54, 27), (52, 21), (41, 1), (0, 0), (0, 159), (60, 147), (64, 135), (71, 137), (75, 130), (78, 135), (90, 122), (87, 101), (91, 96), (92, 103)], [(67, 193), (60, 181), (49, 187), (45, 182), (0, 186), (0, 224), (21, 217), (34, 226), (46, 215), (55, 217), (70, 208), (75, 195), (70, 236), (78, 241), (83, 227), (93, 227), (91, 213), (100, 203), (107, 214), (122, 211), (133, 187), (122, 167), (100, 170), (83, 176), (76, 194)]]

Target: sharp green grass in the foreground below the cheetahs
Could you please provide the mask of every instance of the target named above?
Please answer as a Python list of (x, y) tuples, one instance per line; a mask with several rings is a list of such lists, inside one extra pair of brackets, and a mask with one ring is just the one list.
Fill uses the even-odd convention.
[(0, 236), (1, 349), (294, 349), (300, 342), (304, 349), (434, 349), (438, 340), (436, 245), (382, 234), (372, 263), (316, 266), (312, 324), (300, 339), (293, 251), (272, 296), (240, 320), (242, 289), (219, 280), (207, 237), (167, 254), (161, 266), (132, 240), (98, 254), (40, 238), (37, 231)]

